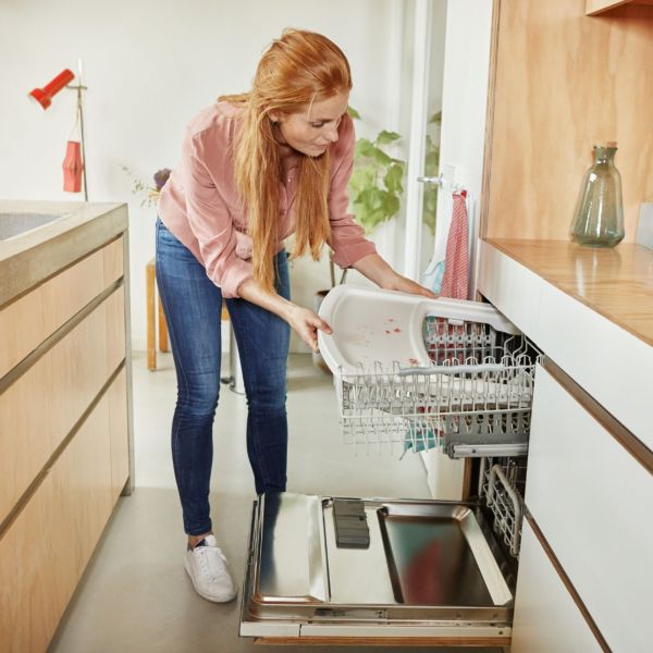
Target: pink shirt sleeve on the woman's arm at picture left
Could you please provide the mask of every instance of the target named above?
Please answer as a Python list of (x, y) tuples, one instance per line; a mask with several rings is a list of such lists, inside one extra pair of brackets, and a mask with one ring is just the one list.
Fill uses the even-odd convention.
[(236, 255), (237, 232), (217, 180), (206, 165), (207, 152), (199, 136), (184, 140), (182, 183), (188, 223), (211, 281), (225, 298), (238, 296), (238, 286), (251, 279), (251, 262)]

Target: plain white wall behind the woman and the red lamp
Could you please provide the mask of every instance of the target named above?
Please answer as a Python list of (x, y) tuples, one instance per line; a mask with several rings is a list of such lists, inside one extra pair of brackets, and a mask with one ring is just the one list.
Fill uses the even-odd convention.
[[(89, 199), (130, 204), (133, 343), (143, 349), (156, 210), (140, 207), (121, 165), (143, 178), (173, 167), (187, 121), (218, 95), (248, 89), (262, 50), (286, 26), (321, 32), (343, 48), (354, 74), (350, 102), (366, 118), (359, 132), (386, 128), (401, 100), (395, 25), (403, 8), (403, 0), (2, 1), (0, 197), (76, 197), (61, 189), (74, 94), (62, 91), (45, 113), (26, 94), (63, 67), (76, 71), (82, 58)], [(295, 263), (298, 303), (310, 306), (328, 284), (325, 261)]]

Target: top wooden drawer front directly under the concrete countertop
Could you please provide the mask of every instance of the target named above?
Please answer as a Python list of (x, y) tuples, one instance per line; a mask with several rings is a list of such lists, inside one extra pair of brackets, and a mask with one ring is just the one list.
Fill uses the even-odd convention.
[(122, 274), (121, 237), (0, 310), (0, 378)]

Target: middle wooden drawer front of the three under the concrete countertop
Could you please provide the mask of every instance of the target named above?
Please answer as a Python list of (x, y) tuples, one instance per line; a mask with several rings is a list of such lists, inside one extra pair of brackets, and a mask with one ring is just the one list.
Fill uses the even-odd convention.
[(121, 286), (0, 395), (0, 522), (124, 357)]

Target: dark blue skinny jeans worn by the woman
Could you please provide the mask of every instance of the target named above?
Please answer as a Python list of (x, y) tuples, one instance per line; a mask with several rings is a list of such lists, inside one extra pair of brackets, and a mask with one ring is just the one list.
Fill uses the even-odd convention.
[[(275, 257), (276, 291), (289, 298), (286, 252)], [(157, 220), (157, 283), (177, 378), (172, 459), (184, 529), (211, 530), (213, 418), (220, 395), (222, 292), (193, 252)], [(247, 454), (257, 494), (284, 492), (288, 324), (245, 299), (226, 299), (247, 395)]]

